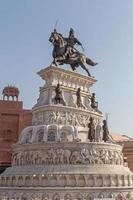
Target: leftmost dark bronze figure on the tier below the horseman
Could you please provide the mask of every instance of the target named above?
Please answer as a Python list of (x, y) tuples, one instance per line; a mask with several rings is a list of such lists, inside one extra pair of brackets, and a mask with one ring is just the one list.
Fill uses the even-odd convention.
[(56, 93), (56, 95), (55, 95), (55, 103), (56, 104), (57, 103), (61, 103), (61, 104), (63, 104), (65, 106), (66, 104), (65, 104), (65, 101), (64, 101), (64, 99), (62, 97), (62, 91), (60, 89), (60, 84), (59, 83), (57, 84), (57, 86), (55, 88), (55, 93)]

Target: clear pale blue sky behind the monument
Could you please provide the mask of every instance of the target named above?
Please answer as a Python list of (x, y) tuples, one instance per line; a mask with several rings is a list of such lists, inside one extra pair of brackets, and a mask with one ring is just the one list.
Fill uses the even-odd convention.
[(48, 38), (57, 20), (58, 32), (67, 37), (73, 27), (98, 62), (89, 68), (97, 79), (91, 92), (110, 131), (133, 136), (133, 0), (0, 0), (0, 98), (15, 85), (24, 108), (36, 103), (44, 84), (36, 73), (52, 62)]

